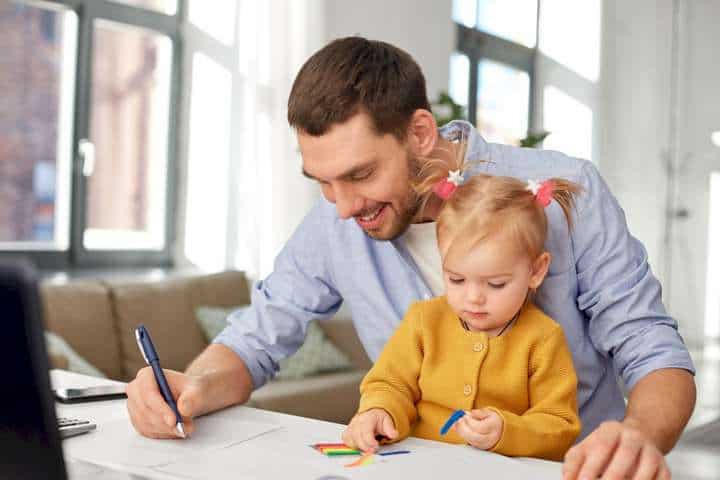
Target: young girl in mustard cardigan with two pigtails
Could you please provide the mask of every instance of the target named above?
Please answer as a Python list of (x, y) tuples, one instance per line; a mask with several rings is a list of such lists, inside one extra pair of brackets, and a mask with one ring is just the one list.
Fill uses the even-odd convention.
[[(577, 378), (561, 327), (530, 298), (550, 265), (544, 209), (555, 200), (570, 228), (580, 187), (463, 182), (447, 166), (423, 185), (420, 194), (445, 200), (437, 237), (446, 295), (410, 306), (362, 382), (343, 441), (371, 452), (378, 438), (413, 435), (561, 460), (580, 433)], [(441, 435), (455, 410), (465, 416)]]

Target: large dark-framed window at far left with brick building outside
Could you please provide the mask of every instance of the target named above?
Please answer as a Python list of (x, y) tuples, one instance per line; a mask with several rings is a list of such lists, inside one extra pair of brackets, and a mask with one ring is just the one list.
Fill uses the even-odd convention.
[(0, 256), (170, 263), (183, 3), (0, 2)]

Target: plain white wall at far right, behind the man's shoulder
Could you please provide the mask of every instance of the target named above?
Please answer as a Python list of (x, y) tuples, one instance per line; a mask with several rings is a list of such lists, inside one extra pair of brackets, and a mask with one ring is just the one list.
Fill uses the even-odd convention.
[[(673, 70), (673, 0), (604, 2), (598, 164), (631, 231), (648, 250), (681, 333), (689, 344), (700, 345), (709, 174), (720, 169), (720, 150), (710, 143), (710, 133), (720, 129), (720, 3), (680, 0), (678, 5), (679, 55)], [(675, 219), (666, 239), (670, 159), (681, 166), (676, 207), (687, 208), (689, 217)]]

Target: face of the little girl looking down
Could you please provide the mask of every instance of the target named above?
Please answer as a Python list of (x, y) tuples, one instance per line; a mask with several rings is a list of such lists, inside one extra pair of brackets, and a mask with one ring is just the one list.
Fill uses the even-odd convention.
[(503, 234), (450, 261), (446, 258), (449, 245), (440, 239), (439, 246), (448, 303), (471, 330), (490, 336), (515, 316), (550, 266), (549, 253), (534, 260), (518, 255), (512, 239)]

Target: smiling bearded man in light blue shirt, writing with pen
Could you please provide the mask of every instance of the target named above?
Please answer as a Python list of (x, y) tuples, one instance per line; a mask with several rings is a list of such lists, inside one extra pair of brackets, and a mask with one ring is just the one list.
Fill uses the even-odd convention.
[[(255, 285), (252, 308), (187, 369), (168, 372), (186, 428), (192, 417), (246, 401), (278, 361), (302, 343), (308, 322), (348, 302), (369, 356), (413, 301), (442, 294), (433, 220), (440, 200), (419, 205), (411, 182), (429, 158), (467, 141), (476, 171), (580, 183), (570, 235), (549, 208), (550, 273), (536, 301), (562, 324), (578, 372), (582, 441), (567, 454), (566, 478), (667, 478), (663, 459), (695, 402), (693, 365), (665, 313), (660, 285), (624, 215), (589, 162), (556, 152), (486, 143), (465, 122), (438, 130), (425, 80), (405, 52), (382, 42), (336, 40), (298, 74), (288, 105), (303, 173), (325, 201), (308, 214)], [(556, 206), (555, 206), (556, 207)], [(616, 375), (629, 391), (625, 407)], [(135, 428), (174, 437), (171, 410), (152, 372), (128, 386)]]

